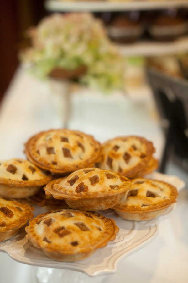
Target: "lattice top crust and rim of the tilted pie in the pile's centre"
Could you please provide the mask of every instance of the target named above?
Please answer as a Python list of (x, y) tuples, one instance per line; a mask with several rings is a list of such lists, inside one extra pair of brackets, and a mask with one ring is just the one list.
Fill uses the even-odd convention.
[[(52, 183), (51, 183), (52, 184)], [(131, 181), (112, 172), (99, 168), (84, 168), (71, 173), (53, 186), (44, 187), (46, 194), (56, 198), (79, 200), (118, 195), (130, 188)]]

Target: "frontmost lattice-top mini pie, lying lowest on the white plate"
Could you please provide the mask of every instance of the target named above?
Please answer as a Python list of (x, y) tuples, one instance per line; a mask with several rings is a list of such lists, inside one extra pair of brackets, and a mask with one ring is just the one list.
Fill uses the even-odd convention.
[(115, 221), (97, 212), (56, 210), (38, 215), (25, 228), (34, 247), (59, 261), (78, 261), (116, 238)]

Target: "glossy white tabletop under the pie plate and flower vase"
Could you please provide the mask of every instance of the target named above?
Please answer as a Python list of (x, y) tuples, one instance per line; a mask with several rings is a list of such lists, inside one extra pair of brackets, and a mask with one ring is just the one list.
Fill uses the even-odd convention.
[[(56, 107), (49, 84), (18, 68), (0, 108), (1, 160), (25, 158), (24, 142), (30, 136), (41, 130), (60, 128)], [(133, 99), (119, 93), (107, 96), (88, 90), (75, 91), (69, 127), (92, 134), (101, 142), (120, 135), (141, 135), (153, 141), (157, 158), (162, 154), (164, 136), (149, 95)], [(157, 237), (118, 263), (116, 272), (90, 277), (77, 271), (21, 264), (0, 253), (0, 281), (187, 283), (188, 176), (175, 164), (168, 164), (166, 174), (176, 175), (186, 184), (179, 193), (175, 210), (159, 223)]]

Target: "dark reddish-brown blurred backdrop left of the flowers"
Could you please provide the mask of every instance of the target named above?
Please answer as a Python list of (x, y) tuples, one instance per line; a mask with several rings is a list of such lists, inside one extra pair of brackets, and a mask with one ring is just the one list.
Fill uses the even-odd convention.
[(24, 32), (47, 14), (43, 0), (0, 1), (0, 98), (18, 66), (17, 54), (20, 44), (24, 44)]

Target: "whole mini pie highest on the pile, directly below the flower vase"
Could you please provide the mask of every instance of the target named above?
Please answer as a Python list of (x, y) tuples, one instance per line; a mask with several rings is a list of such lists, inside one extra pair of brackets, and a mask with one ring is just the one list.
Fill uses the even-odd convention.
[(25, 144), (25, 154), (31, 162), (61, 175), (93, 166), (100, 153), (101, 144), (93, 136), (68, 129), (40, 132)]

